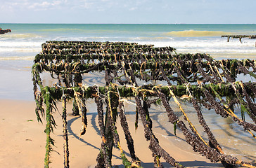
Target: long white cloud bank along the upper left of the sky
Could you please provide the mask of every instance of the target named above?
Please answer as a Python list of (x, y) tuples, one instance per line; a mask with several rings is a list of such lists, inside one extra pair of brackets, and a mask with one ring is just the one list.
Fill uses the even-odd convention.
[[(144, 1), (144, 0), (143, 0)], [(127, 9), (137, 8), (138, 1), (132, 3), (125, 0), (8, 0), (1, 3), (0, 9), (4, 12), (8, 10), (22, 11), (22, 10), (53, 10), (53, 9), (87, 9), (87, 10), (115, 10), (124, 8), (127, 4)], [(8, 10), (7, 10), (8, 9)]]

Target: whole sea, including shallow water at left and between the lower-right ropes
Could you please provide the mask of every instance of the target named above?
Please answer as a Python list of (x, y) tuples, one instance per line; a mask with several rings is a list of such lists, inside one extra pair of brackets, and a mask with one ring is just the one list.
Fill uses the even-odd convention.
[[(238, 38), (231, 38), (229, 42), (222, 38), (222, 35), (256, 35), (255, 24), (0, 23), (0, 27), (11, 29), (11, 33), (0, 34), (0, 99), (33, 101), (31, 66), (34, 56), (41, 52), (41, 44), (46, 41), (125, 41), (153, 44), (155, 47), (171, 46), (178, 53), (207, 53), (215, 59), (256, 59), (256, 39), (242, 38), (241, 43)], [(184, 103), (183, 106), (196, 123), (196, 113), (191, 104)], [(236, 107), (238, 116), (240, 111)], [(256, 143), (248, 132), (233, 123), (231, 118), (219, 117), (215, 111), (204, 109), (203, 114), (225, 153), (255, 163)], [(127, 115), (134, 120), (132, 111)], [(159, 134), (173, 139), (173, 126), (162, 109), (155, 107), (152, 115), (158, 127), (168, 130), (165, 133), (169, 132), (159, 131)], [(184, 140), (177, 139), (178, 145), (179, 141)]]

